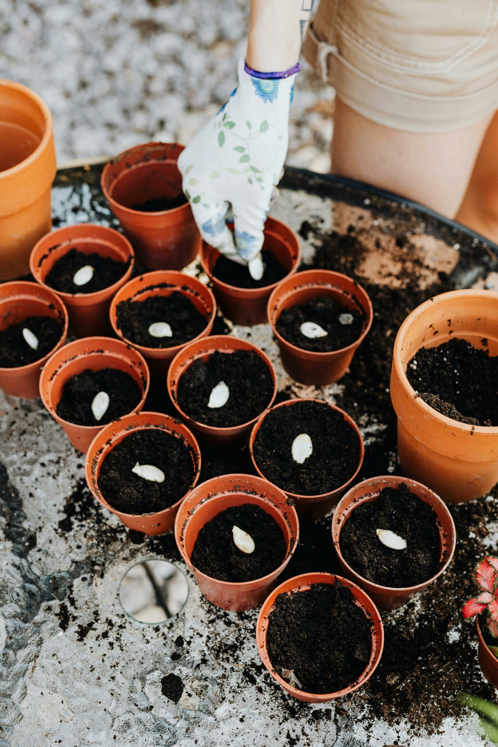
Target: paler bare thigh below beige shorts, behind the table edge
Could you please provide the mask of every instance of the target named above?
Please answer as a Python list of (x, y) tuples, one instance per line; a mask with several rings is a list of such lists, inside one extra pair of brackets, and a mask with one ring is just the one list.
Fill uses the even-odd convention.
[[(372, 122), (337, 98), (332, 173), (455, 217), (490, 120), (485, 117), (461, 130), (438, 134), (405, 132)], [(495, 163), (498, 166), (498, 152)]]

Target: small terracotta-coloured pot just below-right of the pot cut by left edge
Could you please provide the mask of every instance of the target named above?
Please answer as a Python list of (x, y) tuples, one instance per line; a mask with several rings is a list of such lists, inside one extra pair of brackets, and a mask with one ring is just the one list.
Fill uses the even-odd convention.
[(82, 453), (87, 453), (93, 438), (105, 427), (105, 424), (75, 425), (60, 418), (56, 409), (67, 379), (83, 373), (87, 368), (91, 371), (116, 368), (133, 376), (142, 391), (142, 398), (131, 412), (138, 412), (143, 408), (149, 391), (149, 368), (143, 356), (138, 350), (134, 350), (121, 340), (108, 337), (84, 337), (81, 340), (69, 342), (57, 350), (46, 362), (40, 376), (40, 396), (52, 418), (63, 427), (69, 441)]

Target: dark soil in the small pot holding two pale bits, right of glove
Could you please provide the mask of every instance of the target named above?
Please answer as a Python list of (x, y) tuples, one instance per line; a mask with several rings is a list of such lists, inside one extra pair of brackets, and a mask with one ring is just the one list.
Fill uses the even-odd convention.
[[(351, 314), (352, 323), (340, 323), (341, 314)], [(326, 337), (310, 339), (301, 332), (303, 322), (319, 324), (327, 332)], [(302, 306), (284, 309), (276, 323), (277, 332), (296, 347), (315, 353), (341, 350), (358, 340), (363, 331), (364, 314), (358, 309), (348, 309), (332, 296), (317, 296)]]

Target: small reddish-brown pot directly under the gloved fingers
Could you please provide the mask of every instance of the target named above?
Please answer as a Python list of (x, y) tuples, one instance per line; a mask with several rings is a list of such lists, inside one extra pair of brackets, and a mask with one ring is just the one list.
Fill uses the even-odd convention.
[[(289, 275), (296, 272), (301, 261), (301, 247), (296, 234), (280, 220), (267, 218), (264, 226), (263, 249), (271, 252), (288, 270)], [(277, 283), (265, 288), (236, 288), (227, 285), (213, 275), (213, 267), (220, 252), (209, 244), (202, 242), (201, 264), (214, 288), (214, 297), (227, 319), (234, 324), (252, 326), (268, 321), (267, 303)]]

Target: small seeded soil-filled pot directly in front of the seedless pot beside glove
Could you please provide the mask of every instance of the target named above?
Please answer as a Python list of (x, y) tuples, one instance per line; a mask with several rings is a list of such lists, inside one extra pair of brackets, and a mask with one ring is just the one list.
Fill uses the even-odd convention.
[(123, 285), (111, 303), (111, 324), (137, 347), (151, 376), (162, 377), (184, 345), (213, 329), (216, 301), (196, 278), (175, 270), (157, 270)]

